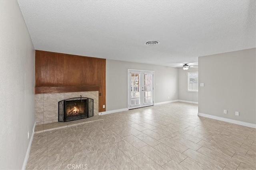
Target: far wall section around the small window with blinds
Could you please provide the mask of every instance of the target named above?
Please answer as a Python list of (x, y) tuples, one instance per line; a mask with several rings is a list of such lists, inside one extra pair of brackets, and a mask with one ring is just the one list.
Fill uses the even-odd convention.
[(194, 71), (198, 71), (198, 68), (189, 68), (188, 70), (178, 68), (179, 100), (198, 102), (198, 92), (188, 92), (188, 72)]

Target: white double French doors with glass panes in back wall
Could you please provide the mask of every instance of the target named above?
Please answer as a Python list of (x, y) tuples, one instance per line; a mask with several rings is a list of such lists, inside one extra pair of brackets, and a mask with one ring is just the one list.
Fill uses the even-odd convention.
[(128, 109), (152, 106), (154, 72), (128, 70)]

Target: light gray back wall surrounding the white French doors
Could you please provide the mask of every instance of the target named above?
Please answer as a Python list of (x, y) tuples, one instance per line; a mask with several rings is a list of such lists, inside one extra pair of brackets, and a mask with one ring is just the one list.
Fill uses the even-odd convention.
[(154, 71), (154, 103), (178, 100), (177, 69), (168, 66), (106, 60), (106, 111), (128, 107), (128, 69)]

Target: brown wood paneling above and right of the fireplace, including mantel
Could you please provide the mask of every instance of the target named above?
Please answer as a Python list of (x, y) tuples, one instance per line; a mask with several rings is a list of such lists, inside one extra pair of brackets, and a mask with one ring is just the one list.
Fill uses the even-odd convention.
[(106, 59), (38, 50), (35, 56), (36, 94), (98, 89), (99, 112), (106, 111)]

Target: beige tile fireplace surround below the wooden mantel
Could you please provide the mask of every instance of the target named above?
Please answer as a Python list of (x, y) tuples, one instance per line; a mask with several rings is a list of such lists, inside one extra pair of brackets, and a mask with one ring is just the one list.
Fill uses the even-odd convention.
[(99, 92), (70, 92), (35, 94), (35, 119), (36, 125), (58, 121), (58, 102), (64, 99), (82, 97), (94, 100), (94, 115), (98, 115)]

